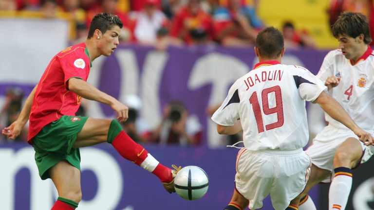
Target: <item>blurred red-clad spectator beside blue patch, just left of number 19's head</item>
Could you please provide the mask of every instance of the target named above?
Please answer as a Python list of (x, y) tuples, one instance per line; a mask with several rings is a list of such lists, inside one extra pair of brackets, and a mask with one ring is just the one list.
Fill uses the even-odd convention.
[[(229, 0), (227, 7), (215, 10), (214, 33), (216, 40), (225, 46), (253, 45), (258, 31), (252, 27), (251, 19), (247, 12), (248, 7), (243, 7), (241, 0)], [(262, 24), (257, 23), (259, 29)]]

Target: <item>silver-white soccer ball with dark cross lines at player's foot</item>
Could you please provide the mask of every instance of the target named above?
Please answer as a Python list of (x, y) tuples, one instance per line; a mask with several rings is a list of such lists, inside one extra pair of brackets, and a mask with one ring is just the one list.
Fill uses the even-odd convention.
[(186, 200), (197, 200), (208, 190), (209, 180), (205, 171), (197, 166), (182, 168), (174, 179), (175, 192)]

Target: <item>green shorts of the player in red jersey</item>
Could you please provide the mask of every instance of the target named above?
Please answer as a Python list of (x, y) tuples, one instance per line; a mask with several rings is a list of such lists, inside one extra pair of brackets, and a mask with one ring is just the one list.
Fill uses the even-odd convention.
[(79, 148), (73, 148), (76, 136), (88, 117), (62, 116), (45, 125), (32, 139), (35, 161), (42, 180), (50, 178), (48, 169), (61, 160), (67, 160), (80, 170)]

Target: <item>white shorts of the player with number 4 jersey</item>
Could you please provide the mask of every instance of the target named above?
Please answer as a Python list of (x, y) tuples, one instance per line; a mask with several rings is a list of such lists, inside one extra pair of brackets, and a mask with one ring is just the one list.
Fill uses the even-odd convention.
[[(372, 131), (367, 131), (374, 134)], [(318, 135), (313, 140), (312, 145), (308, 147), (306, 153), (312, 158), (312, 163), (320, 169), (329, 170), (332, 173), (334, 172), (334, 156), (337, 148), (340, 146), (344, 140), (348, 138), (355, 138), (358, 140), (358, 137), (351, 130), (336, 128), (332, 125), (328, 125), (323, 130), (318, 133)], [(359, 141), (362, 146), (362, 151), (364, 155), (361, 159), (361, 163), (364, 163), (372, 157), (374, 152), (373, 146), (365, 146), (361, 141)], [(322, 182), (330, 182), (330, 176), (326, 177)]]

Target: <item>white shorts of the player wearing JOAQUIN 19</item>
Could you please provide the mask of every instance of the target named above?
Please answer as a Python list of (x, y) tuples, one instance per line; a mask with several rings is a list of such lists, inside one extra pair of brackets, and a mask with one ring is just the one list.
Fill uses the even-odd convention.
[(236, 160), (236, 189), (249, 200), (250, 210), (262, 208), (262, 200), (269, 194), (275, 210), (284, 210), (303, 191), (310, 166), (310, 158), (302, 149), (248, 151), (243, 148)]

